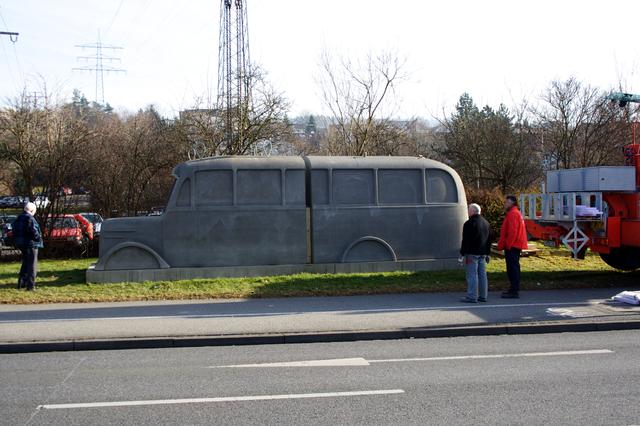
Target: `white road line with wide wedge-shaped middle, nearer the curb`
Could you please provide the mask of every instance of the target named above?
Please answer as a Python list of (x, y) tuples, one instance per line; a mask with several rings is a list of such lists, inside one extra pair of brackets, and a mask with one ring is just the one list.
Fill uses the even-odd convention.
[(609, 349), (592, 349), (584, 351), (559, 351), (559, 352), (525, 352), (513, 354), (489, 354), (489, 355), (458, 355), (458, 356), (438, 356), (428, 358), (392, 358), (392, 359), (371, 359), (364, 358), (337, 358), (321, 359), (311, 361), (293, 362), (269, 362), (263, 364), (235, 364), (235, 365), (213, 365), (208, 368), (286, 368), (286, 367), (366, 367), (375, 363), (383, 362), (416, 362), (416, 361), (452, 361), (465, 359), (494, 359), (494, 358), (523, 358), (538, 356), (573, 356), (573, 355), (601, 355), (612, 354)]

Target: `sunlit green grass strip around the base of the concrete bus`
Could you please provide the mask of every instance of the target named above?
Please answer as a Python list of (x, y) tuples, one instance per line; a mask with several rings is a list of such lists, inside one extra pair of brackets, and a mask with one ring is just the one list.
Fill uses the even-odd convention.
[[(38, 291), (15, 288), (19, 262), (0, 263), (0, 303), (113, 302), (245, 297), (343, 296), (384, 293), (463, 292), (462, 268), (437, 272), (386, 272), (376, 274), (297, 274), (260, 278), (216, 278), (188, 281), (87, 284), (85, 270), (96, 259), (41, 260)], [(559, 289), (635, 287), (640, 271), (625, 273), (588, 255), (575, 261), (566, 251), (544, 250), (522, 258), (522, 288)], [(492, 290), (506, 288), (504, 260), (488, 266)]]

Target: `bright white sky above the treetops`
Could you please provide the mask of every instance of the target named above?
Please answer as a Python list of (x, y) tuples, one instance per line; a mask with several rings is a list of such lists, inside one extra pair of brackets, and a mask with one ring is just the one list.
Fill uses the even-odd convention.
[[(480, 105), (538, 98), (553, 79), (610, 88), (640, 84), (639, 1), (246, 0), (251, 59), (292, 104), (291, 116), (326, 112), (316, 84), (323, 49), (354, 58), (395, 51), (406, 59), (399, 117), (449, 111), (463, 92)], [(121, 46), (104, 76), (118, 109), (154, 104), (167, 115), (217, 86), (220, 0), (0, 0), (3, 104), (27, 86), (95, 98), (79, 56)], [(105, 55), (112, 52), (105, 51)], [(90, 63), (89, 63), (90, 64)]]

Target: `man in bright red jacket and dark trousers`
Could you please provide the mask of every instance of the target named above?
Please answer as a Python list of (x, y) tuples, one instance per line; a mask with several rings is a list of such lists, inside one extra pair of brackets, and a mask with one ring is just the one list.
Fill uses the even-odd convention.
[(527, 229), (522, 214), (518, 210), (518, 200), (513, 195), (507, 195), (504, 200), (507, 214), (500, 228), (498, 250), (504, 250), (504, 260), (507, 263), (509, 290), (502, 293), (504, 299), (517, 299), (520, 291), (520, 251), (527, 248)]

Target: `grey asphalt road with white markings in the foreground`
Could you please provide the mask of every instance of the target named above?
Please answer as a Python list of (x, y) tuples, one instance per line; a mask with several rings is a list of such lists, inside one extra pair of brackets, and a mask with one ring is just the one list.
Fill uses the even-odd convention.
[(638, 342), (615, 331), (0, 355), (0, 423), (632, 425)]

